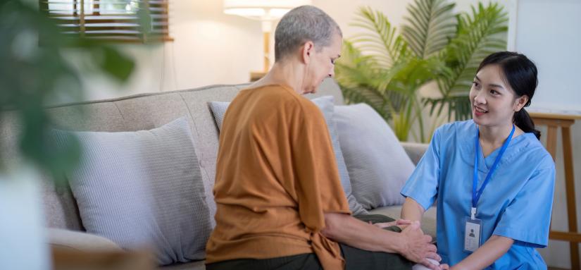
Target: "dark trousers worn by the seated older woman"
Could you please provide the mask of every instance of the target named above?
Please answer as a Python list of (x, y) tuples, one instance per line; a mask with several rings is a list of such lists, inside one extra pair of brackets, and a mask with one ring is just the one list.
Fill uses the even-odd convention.
[[(382, 215), (361, 215), (355, 216), (362, 221), (372, 223), (394, 221)], [(401, 232), (399, 227), (392, 226), (386, 228), (388, 231)], [(360, 250), (349, 245), (341, 245), (341, 253), (345, 259), (346, 270), (379, 270), (379, 269), (411, 269), (413, 265), (400, 254), (385, 252), (370, 252)], [(314, 253), (298, 254), (287, 257), (277, 257), (271, 259), (232, 259), (224, 262), (207, 264), (206, 270), (232, 270), (232, 269), (256, 269), (256, 270), (320, 270), (323, 269), (319, 259)]]

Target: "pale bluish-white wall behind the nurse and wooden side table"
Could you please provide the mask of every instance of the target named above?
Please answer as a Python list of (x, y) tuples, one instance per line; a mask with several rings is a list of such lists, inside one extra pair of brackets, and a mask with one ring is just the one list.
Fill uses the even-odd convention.
[[(509, 36), (513, 48), (529, 56), (539, 68), (539, 86), (532, 107), (551, 110), (575, 110), (581, 114), (581, 92), (577, 77), (581, 63), (581, 1), (577, 0), (519, 0), (513, 13), (514, 35)], [(550, 22), (550, 23), (547, 23)], [(544, 131), (544, 130), (542, 130)], [(577, 213), (581, 196), (581, 123), (572, 126), (573, 167), (576, 169), (575, 194)], [(545, 133), (546, 134), (546, 133)], [(561, 134), (558, 134), (561, 137)], [(577, 142), (575, 144), (575, 142)], [(563, 176), (563, 150), (557, 151), (557, 184), (554, 200), (553, 229), (566, 231), (566, 192)], [(581, 216), (577, 214), (577, 226)], [(549, 242), (542, 255), (549, 263), (561, 268), (570, 267), (568, 243)]]

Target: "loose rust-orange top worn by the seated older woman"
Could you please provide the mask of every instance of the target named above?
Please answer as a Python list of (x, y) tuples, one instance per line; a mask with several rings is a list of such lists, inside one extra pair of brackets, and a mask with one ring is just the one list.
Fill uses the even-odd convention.
[(284, 85), (242, 90), (224, 116), (206, 263), (315, 253), (343, 269), (325, 212), (350, 214), (323, 113)]

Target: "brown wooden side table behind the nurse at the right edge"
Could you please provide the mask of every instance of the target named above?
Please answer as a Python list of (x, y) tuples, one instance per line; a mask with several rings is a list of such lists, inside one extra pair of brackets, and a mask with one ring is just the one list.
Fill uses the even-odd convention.
[(535, 125), (546, 125), (546, 151), (556, 161), (557, 128), (561, 128), (563, 140), (563, 164), (565, 165), (565, 190), (567, 197), (568, 231), (549, 231), (549, 239), (569, 242), (571, 269), (580, 270), (579, 243), (581, 233), (577, 233), (577, 207), (575, 204), (575, 176), (573, 174), (573, 146), (571, 145), (571, 125), (580, 120), (581, 115), (558, 113), (535, 113), (530, 116)]

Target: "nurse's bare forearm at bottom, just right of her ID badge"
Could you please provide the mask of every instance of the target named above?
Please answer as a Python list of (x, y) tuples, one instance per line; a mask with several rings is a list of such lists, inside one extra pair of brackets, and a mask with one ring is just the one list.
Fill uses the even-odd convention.
[(460, 269), (485, 269), (504, 255), (513, 245), (514, 240), (504, 236), (492, 235), (482, 247), (473, 254), (463, 259), (462, 262), (452, 266), (453, 270)]

